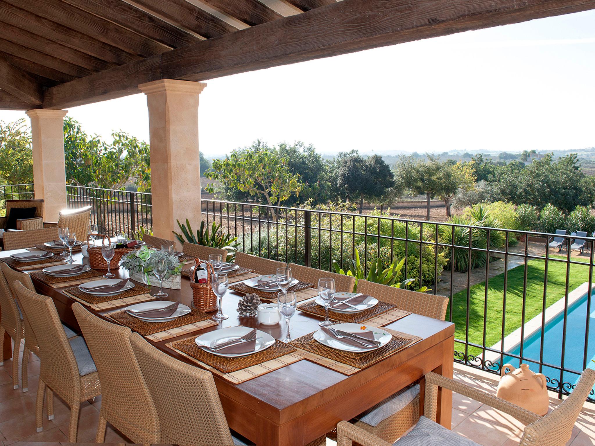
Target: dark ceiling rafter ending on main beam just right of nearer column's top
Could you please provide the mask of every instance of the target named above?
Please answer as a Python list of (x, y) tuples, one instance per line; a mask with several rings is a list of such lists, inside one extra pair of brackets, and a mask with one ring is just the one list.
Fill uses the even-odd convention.
[(236, 27), (186, 0), (134, 0), (134, 2), (206, 39), (237, 31)]

